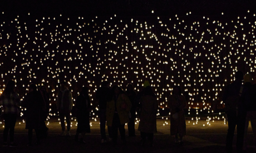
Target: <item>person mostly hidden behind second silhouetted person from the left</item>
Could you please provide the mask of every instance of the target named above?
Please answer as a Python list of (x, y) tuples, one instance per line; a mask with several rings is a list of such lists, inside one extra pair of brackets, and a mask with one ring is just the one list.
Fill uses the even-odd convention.
[(40, 90), (41, 95), (43, 96), (43, 100), (45, 102), (45, 111), (41, 110), (40, 116), (40, 137), (45, 138), (48, 135), (48, 127), (46, 127), (45, 121), (47, 119), (50, 107), (50, 95), (47, 92), (46, 86), (41, 86)]

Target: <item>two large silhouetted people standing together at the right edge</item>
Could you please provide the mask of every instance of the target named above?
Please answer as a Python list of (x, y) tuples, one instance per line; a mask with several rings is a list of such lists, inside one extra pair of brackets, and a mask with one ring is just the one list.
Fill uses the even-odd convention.
[[(254, 78), (255, 81), (255, 78)], [(256, 84), (249, 73), (235, 73), (235, 81), (225, 87), (223, 102), (228, 117), (227, 152), (232, 152), (233, 137), (237, 126), (237, 152), (245, 152), (249, 120), (256, 142)], [(256, 144), (255, 144), (256, 145)]]

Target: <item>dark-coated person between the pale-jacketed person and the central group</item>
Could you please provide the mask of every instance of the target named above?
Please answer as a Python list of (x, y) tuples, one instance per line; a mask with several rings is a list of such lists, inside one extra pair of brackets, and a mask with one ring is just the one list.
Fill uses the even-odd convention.
[(90, 133), (90, 111), (91, 100), (89, 97), (89, 88), (82, 87), (81, 93), (77, 96), (76, 108), (77, 108), (77, 130), (75, 140), (78, 141), (78, 136), (81, 134), (80, 142), (85, 143), (83, 140), (85, 133)]

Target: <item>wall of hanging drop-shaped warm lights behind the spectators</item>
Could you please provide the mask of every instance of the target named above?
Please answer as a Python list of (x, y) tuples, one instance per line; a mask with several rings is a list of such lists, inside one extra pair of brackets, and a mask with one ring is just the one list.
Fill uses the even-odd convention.
[[(187, 98), (188, 123), (196, 125), (207, 116), (210, 125), (210, 120), (224, 120), (218, 111), (224, 107), (224, 86), (237, 70), (252, 73), (256, 64), (256, 21), (250, 11), (231, 17), (191, 12), (150, 18), (7, 15), (0, 15), (6, 19), (0, 23), (0, 92), (9, 79), (16, 81), (21, 100), (30, 83), (45, 85), (52, 106), (60, 81), (68, 83), (74, 103), (81, 87), (88, 86), (95, 121), (101, 81), (122, 88), (132, 83), (139, 92), (147, 80), (159, 102), (157, 116), (167, 119), (168, 96), (179, 85)], [(48, 124), (58, 115), (51, 106)]]

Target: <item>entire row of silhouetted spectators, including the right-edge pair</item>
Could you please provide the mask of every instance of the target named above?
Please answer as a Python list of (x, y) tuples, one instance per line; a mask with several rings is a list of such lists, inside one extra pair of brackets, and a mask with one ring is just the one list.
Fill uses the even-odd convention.
[[(255, 79), (254, 79), (255, 80)], [(17, 146), (14, 143), (14, 127), (16, 124), (19, 107), (27, 109), (26, 129), (28, 129), (28, 145), (32, 145), (32, 131), (36, 132), (36, 144), (40, 144), (40, 139), (46, 137), (48, 128), (45, 120), (49, 111), (49, 95), (46, 87), (37, 89), (35, 84), (29, 86), (24, 101), (20, 101), (18, 93), (14, 91), (16, 82), (8, 81), (1, 97), (0, 105), (3, 108), (4, 131), (3, 146)], [(72, 93), (67, 88), (65, 81), (60, 83), (61, 88), (57, 97), (57, 110), (61, 120), (62, 132), (60, 136), (71, 136), (70, 112), (73, 111), (77, 117), (77, 131), (75, 141), (85, 143), (85, 134), (90, 133), (90, 112), (91, 100), (89, 88), (82, 87), (80, 95), (77, 96), (76, 105), (73, 106)], [(223, 102), (226, 107), (228, 117), (227, 152), (232, 152), (232, 144), (235, 127), (237, 126), (237, 151), (243, 152), (247, 146), (247, 131), (249, 120), (252, 124), (254, 134), (256, 134), (256, 84), (249, 73), (242, 71), (235, 73), (235, 81), (225, 87)], [(157, 98), (148, 81), (144, 82), (141, 91), (136, 94), (131, 84), (123, 91), (119, 86), (109, 87), (109, 82), (103, 81), (101, 87), (96, 91), (97, 105), (99, 106), (101, 143), (107, 142), (106, 129), (109, 133), (109, 141), (113, 145), (117, 144), (118, 131), (120, 132), (122, 144), (125, 140), (125, 124), (128, 125), (128, 135), (135, 135), (135, 118), (138, 115), (140, 122), (138, 131), (141, 135), (141, 145), (144, 146), (149, 140), (153, 146), (154, 133), (157, 132), (156, 113)], [(174, 86), (168, 98), (170, 108), (170, 134), (175, 136), (175, 143), (182, 145), (183, 136), (186, 135), (185, 114), (183, 108), (186, 107), (186, 100), (182, 94), (180, 86)], [(137, 114), (138, 112), (138, 114)], [(65, 132), (65, 120), (67, 122), (67, 132)], [(9, 132), (10, 143), (7, 143)], [(81, 137), (79, 139), (79, 135)], [(147, 138), (147, 139), (146, 139)], [(256, 137), (254, 135), (254, 140)], [(256, 145), (256, 144), (255, 144)]]

